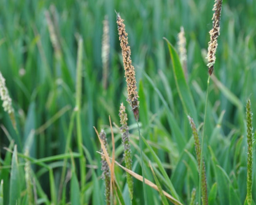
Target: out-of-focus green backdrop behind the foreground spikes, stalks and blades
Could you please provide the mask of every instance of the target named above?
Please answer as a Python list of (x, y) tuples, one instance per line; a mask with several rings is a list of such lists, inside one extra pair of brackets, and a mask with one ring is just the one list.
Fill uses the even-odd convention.
[[(9, 200), (8, 180), (11, 169), (3, 168), (3, 166), (10, 166), (11, 158), (6, 159), (9, 152), (4, 148), (13, 149), (11, 139), (17, 145), (19, 153), (24, 153), (25, 148), (28, 147), (29, 156), (35, 159), (44, 159), (65, 152), (68, 128), (72, 111), (75, 108), (78, 35), (84, 39), (80, 119), (83, 145), (87, 151), (85, 154), (87, 156), (87, 185), (81, 192), (84, 192), (86, 196), (84, 203), (104, 203), (103, 181), (97, 180), (97, 177), (101, 175), (100, 156), (96, 153), (99, 150), (99, 142), (93, 127), (95, 126), (98, 130), (106, 128), (109, 134), (108, 115), (119, 126), (119, 105), (125, 102), (127, 95), (115, 11), (119, 12), (121, 18), (125, 20), (131, 46), (132, 64), (135, 67), (138, 87), (141, 89), (139, 94), (144, 95), (141, 96), (143, 100), (140, 118), (142, 132), (145, 138), (154, 144), (154, 150), (162, 163), (166, 165), (169, 176), (174, 177), (175, 172), (172, 168), (176, 167), (181, 160), (179, 155), (182, 150), (177, 148), (168, 124), (167, 110), (161, 97), (155, 92), (155, 88), (159, 89), (168, 103), (169, 110), (177, 120), (186, 143), (192, 132), (175, 86), (168, 47), (162, 38), (166, 37), (172, 45), (177, 46), (178, 32), (181, 26), (184, 27), (188, 56), (187, 82), (194, 97), (198, 113), (198, 116), (194, 118), (198, 118), (197, 126), (199, 126), (204, 119), (208, 78), (205, 56), (202, 53), (207, 50), (210, 40), (208, 32), (212, 28), (213, 5), (214, 1), (210, 0), (1, 0), (0, 69), (12, 98), (18, 129), (18, 132), (15, 132), (8, 114), (1, 107), (0, 166), (2, 168), (0, 179), (4, 179), (3, 193), (7, 196), (4, 198), (5, 203)], [(244, 173), (247, 153), (244, 111), (248, 97), (251, 98), (252, 111), (256, 113), (255, 13), (255, 1), (223, 2), (221, 32), (218, 38), (217, 60), (214, 69), (217, 80), (212, 80), (210, 84), (210, 105), (207, 118), (207, 135), (211, 136), (211, 140), (207, 142), (211, 142), (212, 149), (217, 159), (220, 160), (220, 166), (225, 169), (227, 175), (231, 178), (232, 175), (235, 176), (236, 183), (233, 185), (235, 192), (240, 193), (241, 201), (244, 201), (246, 194), (246, 183), (242, 182), (240, 173), (242, 176), (246, 175), (246, 172)], [(46, 15), (49, 15), (52, 20), (57, 36), (56, 44), (59, 47), (55, 47), (51, 42)], [(106, 15), (109, 19), (110, 38), (107, 90), (102, 87), (101, 58), (102, 21)], [(145, 74), (151, 78), (153, 85)], [(131, 108), (127, 102), (125, 106), (131, 132), (133, 132), (135, 121)], [(219, 120), (222, 111), (225, 111), (225, 114), (223, 119)], [(215, 130), (217, 124), (220, 126), (218, 132)], [(255, 120), (253, 125), (256, 127)], [(116, 128), (114, 131), (117, 132), (117, 158), (121, 160), (122, 148), (119, 146), (119, 134)], [(213, 134), (213, 131), (217, 133)], [(136, 130), (134, 135), (137, 135)], [(76, 136), (77, 129), (74, 128), (70, 145), (70, 150), (73, 152), (78, 152)], [(237, 148), (237, 141), (240, 139), (242, 139), (242, 145)], [(134, 136), (134, 141), (137, 143), (136, 136)], [(226, 151), (225, 149), (228, 148), (230, 150)], [(132, 150), (133, 153), (138, 154), (135, 148)], [(194, 154), (194, 150), (191, 150)], [(206, 159), (210, 159), (210, 155)], [(19, 160), (22, 162), (24, 159)], [(154, 159), (151, 160), (154, 161)], [(56, 193), (59, 192), (59, 179), (64, 165), (62, 162), (63, 158), (47, 162), (54, 170)], [(74, 163), (77, 165), (78, 173), (78, 160)], [(32, 165), (32, 169), (41, 184), (42, 192), (51, 201), (47, 172), (40, 165)], [(140, 172), (138, 159), (135, 157), (134, 170)], [(117, 172), (117, 178), (123, 187), (125, 186), (124, 174), (121, 170)], [(215, 182), (212, 172), (208, 169), (209, 187)], [(147, 175), (149, 177), (150, 171)], [(77, 177), (79, 181), (78, 174)], [(173, 180), (181, 199), (188, 201), (191, 190), (182, 186), (185, 184), (182, 180), (185, 179), (178, 181), (174, 178)], [(25, 185), (21, 183), (21, 186), (24, 190)], [(134, 204), (140, 204), (142, 191), (139, 187), (142, 185), (136, 181), (134, 186), (134, 198), (136, 199)], [(254, 191), (256, 191), (255, 186), (254, 177)], [(152, 190), (149, 188), (148, 192)], [(124, 190), (124, 196), (128, 197), (127, 188)], [(155, 191), (150, 196), (154, 204), (160, 204), (157, 196)], [(68, 188), (66, 200), (63, 204), (69, 201)], [(218, 200), (221, 201), (221, 198)], [(22, 200), (20, 203), (22, 204)]]

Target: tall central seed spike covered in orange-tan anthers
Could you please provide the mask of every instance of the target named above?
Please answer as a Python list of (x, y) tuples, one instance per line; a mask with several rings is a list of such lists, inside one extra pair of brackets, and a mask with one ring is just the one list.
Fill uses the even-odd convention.
[(119, 13), (117, 13), (117, 25), (118, 25), (118, 35), (120, 46), (122, 49), (122, 57), (124, 63), (125, 70), (125, 78), (127, 81), (127, 91), (128, 91), (128, 99), (127, 101), (132, 107), (132, 111), (134, 112), (134, 117), (136, 120), (139, 118), (139, 101), (138, 101), (138, 93), (135, 79), (135, 71), (134, 66), (132, 66), (131, 60), (131, 49), (128, 46), (128, 34), (125, 32), (124, 19), (121, 19)]

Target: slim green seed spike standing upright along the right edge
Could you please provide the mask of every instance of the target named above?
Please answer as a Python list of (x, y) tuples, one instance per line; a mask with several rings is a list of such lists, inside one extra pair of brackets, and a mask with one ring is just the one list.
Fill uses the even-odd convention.
[(254, 136), (252, 133), (252, 112), (251, 112), (251, 101), (248, 99), (246, 104), (246, 123), (247, 123), (247, 145), (248, 145), (248, 156), (247, 156), (247, 195), (245, 204), (252, 203), (252, 153), (253, 153), (253, 142)]

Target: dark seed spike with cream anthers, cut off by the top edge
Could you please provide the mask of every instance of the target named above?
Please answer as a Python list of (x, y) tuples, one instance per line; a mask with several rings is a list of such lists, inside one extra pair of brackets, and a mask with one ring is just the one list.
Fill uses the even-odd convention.
[(215, 0), (214, 8), (214, 15), (212, 16), (212, 29), (210, 30), (211, 40), (208, 43), (208, 72), (211, 76), (212, 71), (214, 70), (214, 64), (216, 59), (216, 50), (218, 46), (218, 36), (220, 35), (220, 20), (221, 20), (221, 7), (222, 7), (222, 0)]

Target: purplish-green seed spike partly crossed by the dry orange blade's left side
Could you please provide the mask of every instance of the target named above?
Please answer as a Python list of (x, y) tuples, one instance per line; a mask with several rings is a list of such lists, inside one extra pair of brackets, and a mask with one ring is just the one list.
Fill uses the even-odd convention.
[[(101, 132), (99, 133), (99, 137), (102, 139), (102, 142), (104, 143), (105, 148), (107, 148), (107, 137), (102, 129)], [(102, 150), (101, 150), (102, 152)], [(111, 199), (110, 199), (110, 170), (108, 167), (108, 163), (105, 159), (104, 156), (101, 156), (101, 170), (102, 170), (102, 179), (105, 180), (105, 197), (106, 197), (106, 204), (110, 205), (111, 204)]]

